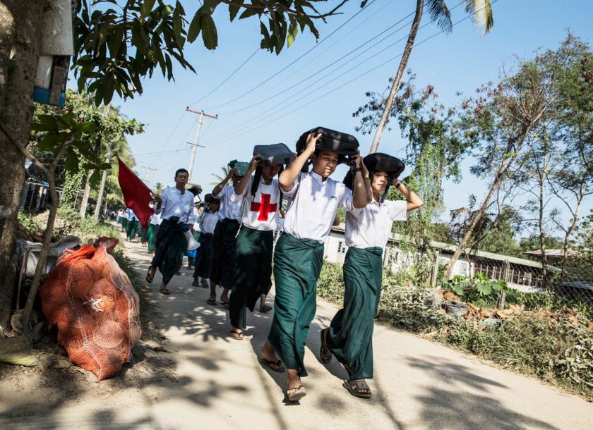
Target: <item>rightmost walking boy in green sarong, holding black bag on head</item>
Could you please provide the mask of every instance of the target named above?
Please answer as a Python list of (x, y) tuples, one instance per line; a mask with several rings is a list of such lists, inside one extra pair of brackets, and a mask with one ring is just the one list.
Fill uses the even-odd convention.
[[(361, 398), (371, 397), (365, 379), (373, 378), (373, 320), (381, 295), (383, 248), (391, 237), (393, 221), (405, 221), (408, 211), (422, 205), (420, 197), (400, 183), (395, 172), (373, 171), (372, 161), (378, 158), (399, 162), (387, 154), (371, 154), (364, 159), (364, 165), (368, 164), (371, 170), (370, 173), (366, 168), (362, 171), (369, 204), (346, 214), (348, 252), (343, 266), (344, 306), (335, 314), (330, 327), (321, 331), (321, 361), (328, 363), (332, 356), (336, 357), (349, 374), (342, 385)], [(384, 166), (389, 164), (383, 163)], [(406, 200), (383, 201), (381, 196), (386, 194), (389, 183), (397, 187)]]

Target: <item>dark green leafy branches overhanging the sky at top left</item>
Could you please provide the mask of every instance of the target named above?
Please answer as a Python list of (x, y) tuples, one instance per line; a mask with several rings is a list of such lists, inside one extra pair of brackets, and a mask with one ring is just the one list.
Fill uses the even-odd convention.
[[(180, 1), (80, 0), (74, 21), (73, 69), (78, 89), (93, 94), (95, 104), (108, 104), (114, 92), (126, 99), (143, 92), (142, 79), (160, 70), (174, 79), (173, 63), (195, 71), (185, 56), (186, 43), (201, 34), (207, 49), (216, 49), (215, 9), (229, 8), (230, 20), (254, 17), (262, 35), (260, 47), (279, 54), (305, 28), (316, 37), (313, 20), (333, 15), (345, 2), (326, 13), (317, 11), (325, 0), (237, 0), (224, 4), (205, 0), (195, 13)], [(91, 11), (91, 6), (94, 10)], [(239, 13), (240, 12), (240, 13)]]

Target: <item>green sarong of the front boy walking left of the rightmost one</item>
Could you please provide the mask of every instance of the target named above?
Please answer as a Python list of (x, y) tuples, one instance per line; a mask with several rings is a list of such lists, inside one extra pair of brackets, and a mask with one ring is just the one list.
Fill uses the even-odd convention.
[(287, 369), (307, 376), (305, 339), (317, 308), (317, 279), (323, 265), (323, 243), (283, 233), (274, 253), (276, 299), (268, 340)]

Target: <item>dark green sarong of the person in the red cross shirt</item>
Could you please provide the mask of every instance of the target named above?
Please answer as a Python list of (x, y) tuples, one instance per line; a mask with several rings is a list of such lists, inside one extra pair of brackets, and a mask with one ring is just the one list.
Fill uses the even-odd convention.
[(246, 309), (253, 312), (260, 296), (270, 290), (273, 247), (273, 231), (241, 227), (236, 238), (234, 284), (229, 300), (229, 315), (233, 327), (245, 330)]

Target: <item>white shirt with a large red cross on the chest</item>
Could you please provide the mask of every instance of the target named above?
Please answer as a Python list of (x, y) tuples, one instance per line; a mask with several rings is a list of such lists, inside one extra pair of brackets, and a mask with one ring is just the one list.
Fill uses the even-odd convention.
[(269, 185), (265, 185), (263, 178), (260, 178), (255, 196), (251, 195), (252, 183), (253, 176), (249, 178), (243, 195), (234, 195), (236, 199), (244, 200), (241, 202), (241, 208), (243, 208), (241, 223), (254, 230), (276, 230), (280, 209), (280, 185), (278, 185), (278, 180), (272, 179)]

